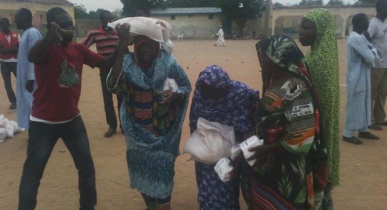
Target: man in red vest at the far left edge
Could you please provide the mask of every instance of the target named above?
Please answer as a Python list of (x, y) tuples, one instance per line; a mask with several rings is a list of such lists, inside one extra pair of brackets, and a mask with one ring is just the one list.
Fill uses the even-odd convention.
[(1, 76), (4, 81), (5, 91), (7, 92), (8, 100), (11, 103), (9, 109), (16, 109), (16, 96), (12, 89), (11, 72), (16, 77), (16, 68), (18, 63), (18, 50), (20, 35), (9, 29), (9, 20), (6, 18), (0, 19), (0, 65)]

